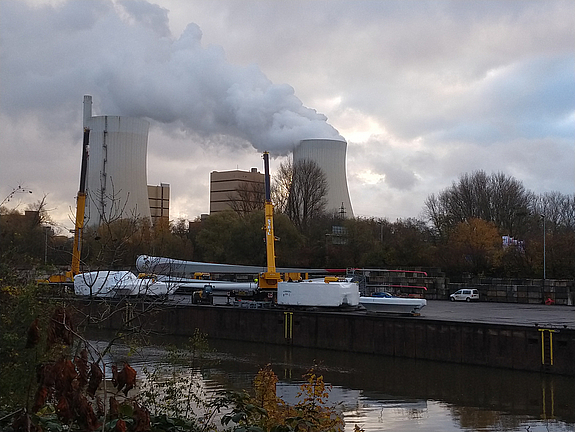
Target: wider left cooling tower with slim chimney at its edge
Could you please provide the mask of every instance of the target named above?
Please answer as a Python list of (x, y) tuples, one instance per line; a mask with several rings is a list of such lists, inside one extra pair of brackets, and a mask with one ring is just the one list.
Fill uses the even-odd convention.
[(149, 220), (149, 123), (130, 117), (92, 117), (92, 97), (84, 96), (84, 127), (90, 128), (86, 225), (120, 218)]

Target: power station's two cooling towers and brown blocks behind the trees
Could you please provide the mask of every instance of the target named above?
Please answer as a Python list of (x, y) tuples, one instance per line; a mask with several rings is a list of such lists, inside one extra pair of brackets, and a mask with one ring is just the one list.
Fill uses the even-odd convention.
[[(148, 121), (120, 116), (92, 116), (92, 96), (84, 96), (84, 128), (90, 130), (85, 225), (118, 219), (169, 220), (170, 185), (147, 184)], [(304, 139), (293, 151), (294, 166), (315, 162), (328, 184), (326, 211), (353, 217), (346, 175), (347, 143), (341, 139)], [(210, 174), (210, 213), (233, 209), (240, 195), (257, 208), (264, 175), (251, 171)], [(239, 193), (240, 192), (240, 193)], [(243, 196), (242, 195), (245, 195)]]

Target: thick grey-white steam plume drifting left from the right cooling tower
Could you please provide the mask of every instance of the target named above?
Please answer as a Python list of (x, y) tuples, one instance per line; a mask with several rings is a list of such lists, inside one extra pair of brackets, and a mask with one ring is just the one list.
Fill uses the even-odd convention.
[[(174, 38), (167, 10), (157, 5), (2, 3), (0, 97), (7, 115), (62, 108), (92, 94), (100, 105), (95, 114), (147, 117), (206, 138), (228, 135), (277, 155), (304, 138), (341, 138), (291, 86), (272, 83), (257, 65), (231, 64), (219, 46), (202, 46), (196, 24)], [(37, 27), (11, 24), (24, 17)]]

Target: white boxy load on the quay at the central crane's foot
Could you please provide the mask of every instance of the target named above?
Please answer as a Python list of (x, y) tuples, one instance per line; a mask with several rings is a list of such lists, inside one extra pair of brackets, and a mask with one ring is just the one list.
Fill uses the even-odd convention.
[(307, 279), (278, 283), (278, 304), (285, 306), (357, 306), (359, 286), (350, 279)]

